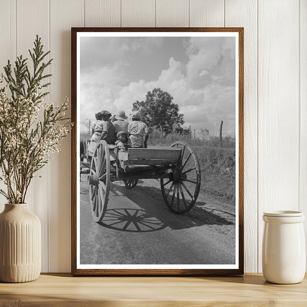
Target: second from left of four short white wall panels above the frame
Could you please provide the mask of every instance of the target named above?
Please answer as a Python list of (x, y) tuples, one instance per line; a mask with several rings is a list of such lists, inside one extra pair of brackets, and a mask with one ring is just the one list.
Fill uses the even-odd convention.
[(154, 0), (122, 0), (122, 27), (154, 27)]

